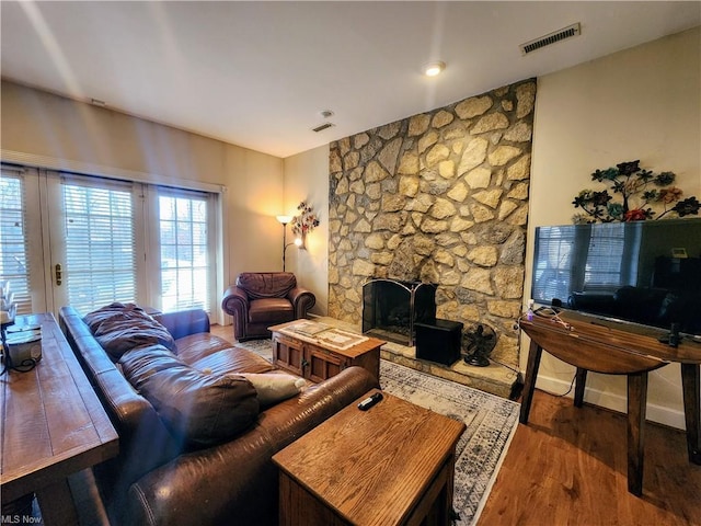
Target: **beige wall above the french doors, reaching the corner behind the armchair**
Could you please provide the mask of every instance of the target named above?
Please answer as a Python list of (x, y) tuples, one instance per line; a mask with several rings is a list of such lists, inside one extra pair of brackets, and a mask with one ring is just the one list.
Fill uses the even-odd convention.
[(0, 137), (3, 161), (221, 191), (219, 288), (281, 270), (277, 157), (7, 81)]

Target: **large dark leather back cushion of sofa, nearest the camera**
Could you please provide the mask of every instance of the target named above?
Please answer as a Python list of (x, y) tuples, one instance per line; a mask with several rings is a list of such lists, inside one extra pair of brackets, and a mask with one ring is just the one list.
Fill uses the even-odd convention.
[(203, 373), (162, 345), (134, 348), (119, 364), (169, 430), (191, 448), (230, 439), (257, 419), (257, 392), (240, 375)]

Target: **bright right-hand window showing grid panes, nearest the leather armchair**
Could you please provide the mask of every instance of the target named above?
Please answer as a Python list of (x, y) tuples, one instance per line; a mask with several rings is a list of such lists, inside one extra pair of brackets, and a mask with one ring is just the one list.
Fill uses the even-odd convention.
[(161, 301), (164, 311), (210, 310), (209, 194), (159, 188)]

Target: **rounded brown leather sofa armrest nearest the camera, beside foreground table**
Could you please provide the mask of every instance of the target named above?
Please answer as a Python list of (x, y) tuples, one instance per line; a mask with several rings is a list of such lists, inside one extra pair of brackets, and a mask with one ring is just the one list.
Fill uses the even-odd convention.
[(232, 441), (181, 455), (131, 485), (125, 524), (185, 526), (192, 524), (194, 511), (203, 526), (232, 521), (277, 524), (278, 470), (273, 455), (375, 387), (372, 375), (348, 367), (273, 405)]

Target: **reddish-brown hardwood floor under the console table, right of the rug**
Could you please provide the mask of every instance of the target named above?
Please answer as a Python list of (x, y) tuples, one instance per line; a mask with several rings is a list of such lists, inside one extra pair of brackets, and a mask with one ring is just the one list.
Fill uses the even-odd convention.
[(478, 526), (701, 525), (701, 466), (647, 422), (643, 495), (628, 492), (625, 415), (536, 391)]

